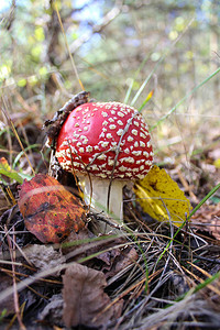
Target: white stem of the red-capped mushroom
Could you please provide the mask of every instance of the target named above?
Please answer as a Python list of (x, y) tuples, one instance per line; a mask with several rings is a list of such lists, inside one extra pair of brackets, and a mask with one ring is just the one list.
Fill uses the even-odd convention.
[[(85, 202), (92, 208), (96, 213), (105, 213), (109, 222), (121, 227), (123, 224), (123, 187), (127, 180), (114, 179), (111, 183), (109, 209), (108, 209), (108, 191), (110, 179), (98, 178), (94, 175), (77, 175), (79, 184), (84, 193)], [(91, 188), (92, 186), (92, 188)], [(113, 221), (112, 221), (113, 220)], [(117, 232), (113, 227), (107, 226), (100, 221), (100, 232)]]

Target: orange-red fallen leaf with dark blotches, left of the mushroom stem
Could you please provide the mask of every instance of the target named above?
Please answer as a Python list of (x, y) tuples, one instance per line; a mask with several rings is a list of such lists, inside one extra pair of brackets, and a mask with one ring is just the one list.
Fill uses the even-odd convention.
[(48, 175), (37, 174), (30, 182), (24, 180), (19, 197), (28, 230), (43, 243), (58, 243), (73, 230), (85, 227), (80, 200)]

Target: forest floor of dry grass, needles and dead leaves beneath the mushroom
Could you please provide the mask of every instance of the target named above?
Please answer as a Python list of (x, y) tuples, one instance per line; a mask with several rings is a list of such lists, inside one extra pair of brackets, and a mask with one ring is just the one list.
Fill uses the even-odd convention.
[[(43, 156), (40, 152), (42, 124), (24, 116), (16, 130), (32, 145), (26, 154), (42, 175), (41, 185), (48, 187), (44, 176), (48, 152), (44, 150)], [(87, 224), (82, 229), (78, 224), (77, 233), (67, 230), (67, 238), (52, 244), (33, 223), (29, 230), (18, 207), (21, 188), (14, 177), (2, 175), (0, 328), (219, 329), (220, 195), (218, 189), (210, 191), (219, 183), (220, 136), (212, 135), (209, 145), (190, 160), (175, 145), (176, 162), (165, 162), (165, 151), (156, 155), (155, 162), (194, 208), (207, 199), (180, 229), (152, 219), (135, 201), (132, 188), (125, 188), (125, 231), (99, 235), (92, 223), (101, 219), (78, 205), (79, 218)], [(7, 130), (2, 138), (1, 155), (10, 162)], [(10, 138), (10, 151), (19, 155), (19, 150), (18, 140)], [(32, 174), (24, 153), (14, 172)], [(72, 175), (59, 176), (78, 200), (74, 180)], [(37, 187), (35, 180), (31, 189)], [(29, 208), (33, 213), (33, 202)]]

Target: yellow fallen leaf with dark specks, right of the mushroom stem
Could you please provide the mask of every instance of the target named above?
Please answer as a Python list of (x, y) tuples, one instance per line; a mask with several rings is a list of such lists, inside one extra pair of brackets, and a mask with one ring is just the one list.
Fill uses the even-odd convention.
[(158, 221), (180, 227), (191, 210), (189, 200), (165, 169), (153, 166), (134, 188), (144, 212)]

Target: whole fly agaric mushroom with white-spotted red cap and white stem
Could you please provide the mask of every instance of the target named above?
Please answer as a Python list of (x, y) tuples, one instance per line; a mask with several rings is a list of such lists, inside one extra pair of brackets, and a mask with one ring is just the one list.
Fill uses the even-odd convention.
[(122, 220), (123, 187), (142, 179), (152, 166), (150, 140), (147, 125), (134, 108), (84, 103), (64, 122), (55, 155), (63, 169), (78, 176), (87, 204), (90, 200), (97, 211)]

